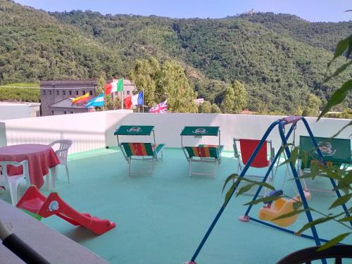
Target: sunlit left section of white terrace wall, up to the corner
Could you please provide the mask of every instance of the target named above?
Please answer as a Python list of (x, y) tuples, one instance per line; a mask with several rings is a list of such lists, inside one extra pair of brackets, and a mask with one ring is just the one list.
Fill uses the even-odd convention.
[[(6, 125), (8, 146), (26, 143), (49, 144), (57, 139), (73, 140), (69, 153), (106, 146), (104, 112), (4, 120), (3, 123)], [(0, 141), (1, 143), (4, 144)]]

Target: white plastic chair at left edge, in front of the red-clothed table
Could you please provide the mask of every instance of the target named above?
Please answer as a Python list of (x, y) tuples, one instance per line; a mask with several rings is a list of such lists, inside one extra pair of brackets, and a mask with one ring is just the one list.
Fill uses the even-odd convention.
[[(8, 176), (7, 166), (12, 165), (15, 167), (23, 166), (23, 174)], [(27, 187), (30, 187), (30, 174), (28, 172), (28, 161), (21, 161), (20, 163), (15, 161), (1, 161), (0, 162), (0, 185), (3, 183), (9, 187), (11, 194), (11, 202), (13, 206), (16, 206), (20, 199), (20, 185), (21, 180), (25, 179)], [(2, 179), (1, 179), (2, 178)]]

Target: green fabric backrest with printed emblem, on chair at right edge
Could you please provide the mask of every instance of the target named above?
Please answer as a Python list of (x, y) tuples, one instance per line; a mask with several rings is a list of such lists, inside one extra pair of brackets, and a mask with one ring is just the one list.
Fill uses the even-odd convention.
[[(315, 137), (322, 156), (325, 161), (332, 162), (337, 165), (341, 163), (352, 163), (351, 161), (351, 139), (337, 139), (328, 137)], [(302, 151), (307, 154), (308, 161), (306, 167), (310, 167), (310, 161), (318, 159), (318, 154), (313, 145), (312, 139), (308, 136), (299, 137), (300, 157), (303, 156)]]

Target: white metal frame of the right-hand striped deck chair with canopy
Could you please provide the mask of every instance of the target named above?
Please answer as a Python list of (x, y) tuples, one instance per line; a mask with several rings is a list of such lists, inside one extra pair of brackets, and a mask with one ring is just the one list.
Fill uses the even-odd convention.
[[(200, 126), (201, 127), (201, 126)], [(184, 127), (185, 129), (186, 127)], [(202, 128), (202, 127), (201, 127)], [(203, 157), (197, 157), (197, 156), (189, 156), (189, 153), (187, 151), (187, 147), (188, 146), (184, 146), (184, 140), (183, 140), (183, 137), (186, 136), (184, 134), (181, 133), (181, 147), (182, 147), (182, 151), (184, 153), (184, 156), (187, 158), (187, 161), (189, 163), (189, 170), (188, 170), (188, 175), (189, 177), (191, 177), (191, 175), (203, 175), (203, 176), (211, 176), (213, 178), (216, 177), (216, 165), (218, 165), (218, 168), (220, 167), (220, 163), (221, 163), (221, 153), (222, 153), (222, 149), (223, 149), (223, 146), (220, 144), (220, 128), (218, 129), (218, 145), (217, 146), (213, 146), (216, 148), (216, 151), (217, 151), (217, 156), (218, 158), (213, 158), (213, 157), (207, 157), (207, 158), (203, 158)], [(187, 135), (189, 136), (189, 135)], [(207, 135), (191, 135), (193, 137), (204, 137), (204, 136), (207, 136)], [(213, 136), (213, 135), (210, 135), (210, 137)], [(208, 146), (202, 146), (202, 144), (200, 144), (199, 146), (196, 146), (197, 148), (201, 148), (201, 147), (204, 147), (204, 148), (208, 148)], [(213, 173), (206, 173), (206, 172), (194, 172), (192, 171), (192, 163), (213, 163), (214, 164), (214, 170), (213, 170)]]

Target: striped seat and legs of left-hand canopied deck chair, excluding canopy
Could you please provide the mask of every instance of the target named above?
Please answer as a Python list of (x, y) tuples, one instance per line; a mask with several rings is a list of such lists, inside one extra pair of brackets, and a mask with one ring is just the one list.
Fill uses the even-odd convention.
[(165, 144), (151, 144), (139, 142), (122, 142), (120, 144), (121, 151), (128, 163), (128, 175), (135, 175), (131, 173), (132, 160), (151, 161), (151, 175), (153, 174), (156, 161), (163, 161), (163, 148)]

